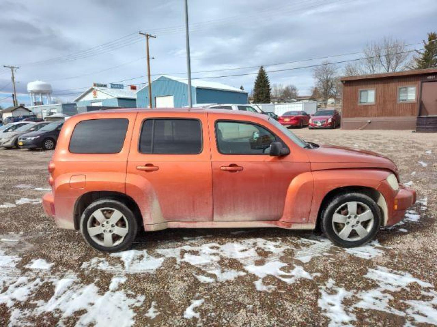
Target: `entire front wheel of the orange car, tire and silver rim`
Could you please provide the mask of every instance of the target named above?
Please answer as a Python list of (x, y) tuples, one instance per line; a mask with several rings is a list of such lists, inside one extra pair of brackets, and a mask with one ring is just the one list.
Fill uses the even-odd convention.
[(381, 211), (372, 198), (361, 193), (345, 193), (326, 205), (322, 228), (336, 245), (353, 248), (372, 240), (381, 220)]

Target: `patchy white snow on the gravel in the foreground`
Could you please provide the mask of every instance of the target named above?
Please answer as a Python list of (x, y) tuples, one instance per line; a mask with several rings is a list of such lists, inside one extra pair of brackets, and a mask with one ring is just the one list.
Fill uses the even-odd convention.
[[(427, 198), (417, 201), (420, 208), (427, 208)], [(410, 209), (399, 225), (416, 223), (420, 215)], [(394, 227), (397, 228), (397, 227)], [(402, 230), (401, 230), (402, 229)], [(399, 231), (407, 232), (405, 228)], [(243, 231), (242, 231), (243, 232)], [(240, 234), (240, 233), (234, 233)], [(278, 283), (293, 284), (298, 280), (317, 283), (320, 272), (311, 270), (311, 261), (327, 256), (351, 255), (358, 259), (371, 260), (385, 254), (390, 249), (377, 240), (354, 249), (342, 249), (334, 246), (328, 239), (312, 236), (298, 238), (293, 245), (285, 244), (281, 238), (237, 238), (223, 244), (208, 242), (206, 237), (184, 239), (183, 246), (171, 247), (171, 242), (155, 250), (128, 250), (102, 254), (84, 262), (77, 276), (72, 272), (50, 274), (53, 263), (44, 259), (33, 259), (24, 272), (17, 268), (21, 258), (7, 255), (0, 249), (0, 304), (10, 310), (12, 325), (23, 324), (32, 317), (56, 312), (59, 324), (69, 317), (79, 315), (78, 325), (94, 324), (130, 326), (134, 324), (134, 309), (144, 306), (146, 296), (133, 291), (125, 291), (123, 284), (131, 274), (155, 274), (168, 259), (175, 259), (175, 265), (182, 263), (197, 269), (193, 275), (201, 283), (225, 283), (240, 276), (252, 275), (255, 278), (254, 289), (259, 292), (274, 292)], [(196, 241), (196, 244), (192, 242)], [(169, 246), (170, 247), (166, 247)], [(229, 269), (222, 266), (223, 260), (233, 259), (240, 268)], [(238, 265), (237, 265), (238, 267)], [(113, 274), (107, 289), (99, 289), (96, 283), (83, 283), (78, 277), (93, 269)], [(57, 269), (59, 270), (59, 269)], [(41, 272), (44, 272), (41, 274)], [(350, 325), (357, 320), (356, 310), (379, 310), (406, 317), (409, 323), (424, 322), (437, 324), (437, 292), (434, 286), (411, 276), (409, 273), (390, 270), (382, 266), (369, 268), (360, 278), (367, 279), (371, 286), (366, 290), (354, 290), (339, 281), (329, 279), (319, 284), (318, 305), (330, 326)], [(42, 287), (51, 284), (53, 294), (47, 300), (32, 300)], [(45, 286), (43, 286), (45, 285)], [(394, 293), (409, 292), (412, 285), (419, 286), (421, 294), (429, 300), (420, 300), (411, 296), (400, 296), (394, 301)], [(423, 298), (423, 297), (422, 297)], [(155, 319), (160, 314), (156, 301), (147, 299), (150, 304), (146, 317)], [(345, 301), (348, 305), (345, 305)], [(400, 304), (399, 304), (400, 301)], [(20, 303), (32, 303), (33, 310), (23, 309)], [(200, 319), (197, 308), (205, 303), (198, 296), (191, 300), (183, 313), (186, 319)], [(353, 303), (350, 305), (349, 303)], [(209, 303), (208, 303), (209, 304)], [(406, 310), (400, 311), (399, 305)]]

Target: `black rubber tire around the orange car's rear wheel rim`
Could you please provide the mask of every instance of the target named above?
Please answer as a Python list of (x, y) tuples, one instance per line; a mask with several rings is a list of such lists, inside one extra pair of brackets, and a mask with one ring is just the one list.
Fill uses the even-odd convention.
[[(123, 217), (127, 221), (127, 224), (125, 224), (127, 226), (127, 229), (128, 229), (127, 234), (124, 236), (124, 238), (122, 239), (122, 241), (119, 244), (116, 244), (114, 246), (104, 246), (102, 244), (97, 243), (90, 236), (90, 234), (88, 232), (88, 221), (90, 219), (93, 219), (93, 220), (96, 219), (92, 215), (98, 209), (102, 209), (102, 208), (111, 208), (111, 209), (115, 209), (115, 210), (120, 211), (121, 214), (123, 215)], [(106, 218), (106, 219), (108, 219), (108, 218)], [(106, 221), (106, 223), (108, 223), (108, 222), (109, 222), (109, 219)], [(100, 227), (100, 226), (96, 226), (96, 227)], [(108, 228), (111, 228), (111, 227), (108, 227)], [(85, 209), (85, 211), (83, 211), (82, 217), (80, 218), (80, 232), (82, 233), (83, 238), (94, 249), (102, 251), (102, 252), (112, 253), (112, 252), (120, 252), (120, 251), (124, 251), (124, 250), (128, 249), (132, 245), (132, 242), (135, 240), (135, 237), (137, 235), (137, 231), (138, 231), (138, 222), (137, 222), (137, 219), (135, 218), (135, 215), (132, 212), (132, 210), (129, 209), (124, 203), (117, 201), (117, 200), (114, 200), (114, 199), (101, 199), (101, 200), (94, 201)], [(109, 232), (109, 230), (108, 230), (108, 232)], [(99, 234), (97, 236), (100, 237), (101, 235), (103, 235), (102, 238), (104, 238), (104, 234)], [(117, 236), (118, 235), (115, 235), (115, 237), (117, 237)], [(112, 240), (114, 240), (113, 236), (111, 236), (111, 238), (112, 238)], [(102, 242), (103, 242), (103, 240), (102, 240)], [(116, 242), (114, 242), (114, 243), (116, 243)]]

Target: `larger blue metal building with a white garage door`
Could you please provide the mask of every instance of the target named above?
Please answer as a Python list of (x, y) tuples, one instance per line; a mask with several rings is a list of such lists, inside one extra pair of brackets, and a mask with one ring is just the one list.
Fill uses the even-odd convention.
[[(149, 106), (148, 85), (136, 93), (138, 108)], [(193, 104), (236, 103), (247, 104), (248, 93), (217, 82), (193, 79), (191, 83)], [(152, 82), (152, 102), (155, 108), (178, 108), (188, 106), (187, 79), (161, 75)]]

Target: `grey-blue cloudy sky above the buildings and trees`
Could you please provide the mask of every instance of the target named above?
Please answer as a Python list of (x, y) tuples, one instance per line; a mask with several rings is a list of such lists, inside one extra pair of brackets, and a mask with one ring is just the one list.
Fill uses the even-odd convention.
[[(186, 76), (183, 0), (0, 1), (0, 64), (20, 67), (20, 93), (36, 79), (52, 83), (54, 94), (64, 100), (93, 82), (145, 82), (145, 41), (138, 31), (157, 36), (150, 41), (155, 78)], [(272, 84), (294, 84), (306, 95), (313, 85), (312, 68), (302, 67), (323, 61), (314, 58), (360, 51), (384, 36), (413, 44), (437, 30), (436, 0), (188, 2), (193, 78), (246, 90), (256, 77), (251, 73), (257, 68), (251, 67), (264, 65), (267, 71), (279, 70), (269, 73)], [(11, 91), (10, 70), (2, 67), (0, 106), (10, 103), (3, 98)]]

